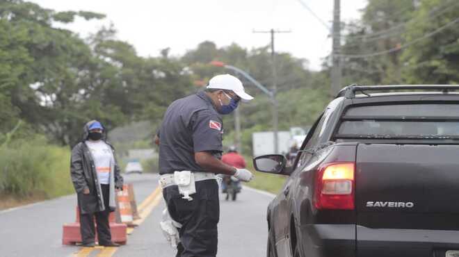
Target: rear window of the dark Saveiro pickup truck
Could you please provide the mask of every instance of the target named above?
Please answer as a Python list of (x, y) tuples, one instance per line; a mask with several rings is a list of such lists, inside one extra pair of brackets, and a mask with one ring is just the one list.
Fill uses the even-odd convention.
[(336, 138), (459, 139), (459, 105), (410, 104), (349, 108)]

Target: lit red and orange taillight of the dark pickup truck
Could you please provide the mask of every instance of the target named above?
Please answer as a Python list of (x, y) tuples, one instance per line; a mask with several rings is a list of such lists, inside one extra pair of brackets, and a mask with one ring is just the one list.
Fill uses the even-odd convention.
[(317, 209), (354, 209), (355, 163), (328, 163), (319, 168), (314, 192)]

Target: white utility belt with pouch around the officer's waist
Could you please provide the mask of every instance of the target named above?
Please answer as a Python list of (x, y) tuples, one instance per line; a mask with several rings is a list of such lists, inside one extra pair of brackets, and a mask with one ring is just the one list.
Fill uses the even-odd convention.
[(209, 172), (190, 172), (188, 170), (182, 172), (174, 172), (174, 174), (164, 174), (159, 176), (159, 185), (162, 189), (168, 188), (171, 185), (178, 185), (179, 192), (188, 201), (193, 200), (191, 194), (195, 194), (196, 185), (198, 181), (205, 181), (209, 179), (217, 179), (214, 173)]

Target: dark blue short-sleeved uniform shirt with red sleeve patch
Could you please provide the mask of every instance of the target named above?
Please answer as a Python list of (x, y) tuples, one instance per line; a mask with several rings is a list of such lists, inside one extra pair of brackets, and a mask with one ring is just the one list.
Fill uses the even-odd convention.
[(222, 118), (205, 92), (171, 103), (158, 135), (159, 174), (202, 172), (195, 162), (195, 152), (209, 151), (220, 158), (223, 151)]

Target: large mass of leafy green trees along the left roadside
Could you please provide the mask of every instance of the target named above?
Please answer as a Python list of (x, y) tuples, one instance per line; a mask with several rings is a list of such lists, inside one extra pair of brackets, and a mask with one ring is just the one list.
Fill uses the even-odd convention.
[(76, 16), (104, 17), (1, 1), (0, 133), (24, 119), (34, 131), (74, 144), (90, 119), (108, 128), (140, 117), (158, 119), (160, 110), (191, 87), (178, 60), (141, 58), (115, 38), (113, 28), (83, 40), (54, 26)]

